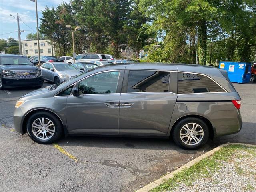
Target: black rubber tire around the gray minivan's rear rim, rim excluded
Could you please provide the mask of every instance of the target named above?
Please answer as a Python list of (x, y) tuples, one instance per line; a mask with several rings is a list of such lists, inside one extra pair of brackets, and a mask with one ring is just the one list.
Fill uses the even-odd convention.
[[(198, 129), (203, 130), (202, 137), (200, 135), (193, 136), (192, 129), (191, 130), (189, 129), (190, 132), (186, 132), (183, 129), (183, 126), (185, 126), (186, 124), (190, 125), (190, 123), (191, 123), (191, 125), (192, 125), (192, 123), (196, 123), (199, 125), (198, 128), (196, 128), (196, 130), (198, 130)], [(194, 118), (194, 117), (185, 118), (185, 119), (181, 120), (180, 122), (178, 122), (178, 124), (176, 124), (176, 126), (173, 129), (174, 130), (172, 132), (172, 138), (173, 138), (174, 142), (183, 149), (195, 150), (195, 149), (201, 148), (204, 144), (206, 144), (206, 142), (208, 141), (208, 138), (209, 138), (209, 128), (208, 128), (207, 124), (199, 118)], [(192, 143), (191, 145), (186, 144), (184, 142), (184, 140), (182, 140), (180, 134), (185, 135), (184, 131), (186, 134), (191, 134), (190, 136), (185, 136), (185, 138), (184, 138), (184, 140), (186, 140), (186, 138), (188, 138), (188, 140), (190, 139), (191, 143)], [(190, 137), (193, 137), (193, 138), (190, 138)], [(198, 142), (198, 139), (196, 139), (194, 137), (197, 137), (197, 138), (201, 137), (200, 141)], [(195, 140), (197, 140), (198, 143), (196, 143)]]

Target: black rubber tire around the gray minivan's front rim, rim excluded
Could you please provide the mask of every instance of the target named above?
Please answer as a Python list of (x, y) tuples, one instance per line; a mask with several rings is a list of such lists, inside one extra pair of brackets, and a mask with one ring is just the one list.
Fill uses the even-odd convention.
[[(32, 131), (32, 124), (35, 120), (37, 120), (38, 118), (46, 118), (50, 121), (52, 121), (52, 123), (54, 124), (54, 128), (55, 128), (55, 132), (54, 134), (49, 138), (49, 139), (41, 139), (38, 138), (34, 135), (33, 131)], [(56, 142), (57, 140), (60, 139), (60, 137), (63, 134), (63, 128), (62, 128), (62, 124), (60, 122), (60, 120), (54, 116), (52, 113), (50, 112), (36, 112), (34, 114), (32, 114), (27, 121), (27, 132), (28, 132), (28, 136), (35, 142), (39, 143), (39, 144), (51, 144)], [(45, 133), (46, 134), (46, 133)], [(42, 136), (42, 133), (39, 134)]]

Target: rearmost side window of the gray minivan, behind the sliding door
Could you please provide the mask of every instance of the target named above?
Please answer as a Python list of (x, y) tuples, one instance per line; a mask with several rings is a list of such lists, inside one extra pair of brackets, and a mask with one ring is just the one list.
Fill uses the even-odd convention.
[(193, 73), (178, 73), (178, 94), (224, 92), (210, 78)]

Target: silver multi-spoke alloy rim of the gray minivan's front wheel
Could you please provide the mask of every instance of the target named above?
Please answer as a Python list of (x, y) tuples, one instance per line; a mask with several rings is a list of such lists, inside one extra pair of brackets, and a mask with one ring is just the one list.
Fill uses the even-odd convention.
[(55, 133), (54, 123), (48, 118), (37, 118), (32, 123), (32, 133), (38, 139), (50, 139)]

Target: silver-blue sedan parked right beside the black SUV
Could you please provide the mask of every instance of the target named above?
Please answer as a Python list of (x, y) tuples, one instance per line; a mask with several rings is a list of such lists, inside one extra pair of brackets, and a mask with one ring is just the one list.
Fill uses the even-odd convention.
[(74, 66), (64, 62), (47, 62), (41, 65), (44, 80), (54, 82), (64, 82), (81, 74), (81, 71)]

